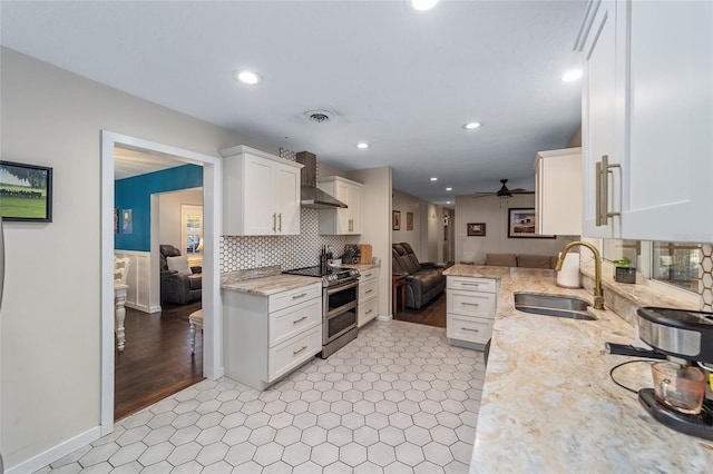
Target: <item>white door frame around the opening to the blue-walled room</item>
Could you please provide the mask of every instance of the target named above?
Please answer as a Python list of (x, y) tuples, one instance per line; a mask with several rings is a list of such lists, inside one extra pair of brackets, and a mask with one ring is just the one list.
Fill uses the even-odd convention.
[(101, 130), (101, 436), (114, 431), (114, 149), (117, 145), (203, 166), (203, 375), (216, 379), (224, 373), (218, 251), (223, 175), (221, 159)]

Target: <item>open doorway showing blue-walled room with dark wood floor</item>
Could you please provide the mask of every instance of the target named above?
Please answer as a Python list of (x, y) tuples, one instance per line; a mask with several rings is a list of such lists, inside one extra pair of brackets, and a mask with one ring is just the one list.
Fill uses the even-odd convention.
[[(115, 150), (115, 207), (121, 217), (125, 208), (134, 207), (136, 230), (124, 235), (124, 226), (115, 226), (115, 255), (129, 261), (126, 344), (115, 349), (115, 421), (204, 378), (202, 332), (189, 329), (191, 316), (202, 309), (203, 168), (184, 165)], [(170, 247), (180, 255), (162, 257), (160, 268), (150, 267), (152, 241), (160, 245), (162, 254)], [(185, 268), (172, 271), (165, 267), (168, 260)], [(159, 289), (158, 300), (150, 300), (152, 288)]]

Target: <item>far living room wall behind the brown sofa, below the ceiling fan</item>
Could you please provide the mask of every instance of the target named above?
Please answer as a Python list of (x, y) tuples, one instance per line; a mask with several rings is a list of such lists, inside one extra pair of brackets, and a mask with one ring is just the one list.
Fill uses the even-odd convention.
[[(484, 263), (486, 254), (556, 255), (573, 240), (570, 237), (508, 238), (508, 208), (511, 207), (535, 207), (535, 196), (515, 195), (509, 199), (458, 196), (453, 219), (456, 263)], [(468, 223), (486, 223), (486, 236), (468, 237)]]

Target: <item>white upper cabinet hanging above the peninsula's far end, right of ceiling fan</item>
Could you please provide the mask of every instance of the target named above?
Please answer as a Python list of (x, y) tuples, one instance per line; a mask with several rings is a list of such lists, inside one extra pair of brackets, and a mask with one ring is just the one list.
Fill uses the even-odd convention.
[(537, 154), (535, 218), (537, 234), (582, 234), (582, 148)]

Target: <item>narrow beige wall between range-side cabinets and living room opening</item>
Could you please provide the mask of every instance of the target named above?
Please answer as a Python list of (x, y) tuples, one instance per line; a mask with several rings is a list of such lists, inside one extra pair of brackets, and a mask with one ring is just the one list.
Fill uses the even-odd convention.
[(371, 244), (372, 257), (381, 258), (379, 315), (391, 315), (391, 168), (346, 171), (346, 177), (364, 186), (361, 192), (362, 233), (360, 243)]

